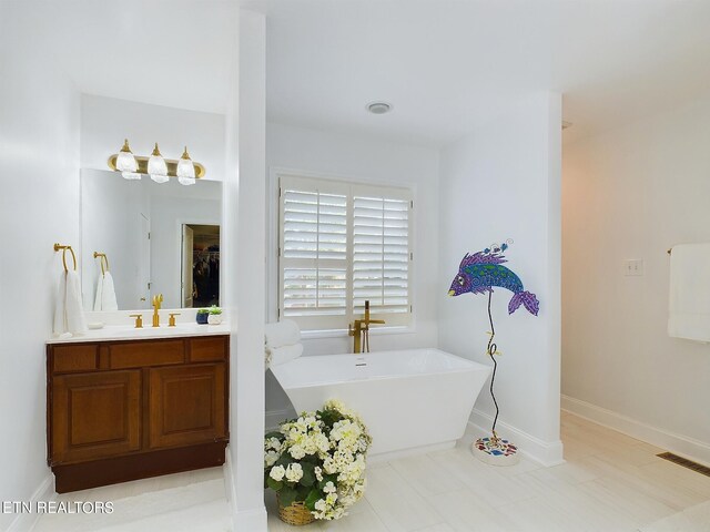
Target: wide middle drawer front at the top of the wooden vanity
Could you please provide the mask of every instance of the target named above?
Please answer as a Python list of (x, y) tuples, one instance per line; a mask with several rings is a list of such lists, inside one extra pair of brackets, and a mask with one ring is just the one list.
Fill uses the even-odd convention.
[(168, 366), (185, 361), (185, 342), (179, 340), (130, 341), (109, 346), (109, 368)]

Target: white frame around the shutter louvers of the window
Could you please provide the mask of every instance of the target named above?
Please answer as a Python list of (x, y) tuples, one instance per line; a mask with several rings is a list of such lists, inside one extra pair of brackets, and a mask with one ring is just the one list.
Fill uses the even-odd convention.
[[(306, 336), (324, 334), (329, 336), (334, 332), (347, 330), (348, 324), (353, 319), (359, 317), (359, 313), (356, 313), (353, 307), (353, 269), (354, 269), (354, 197), (355, 196), (375, 196), (384, 197), (387, 200), (400, 200), (408, 202), (408, 216), (407, 216), (407, 246), (408, 246), (408, 260), (407, 260), (407, 305), (408, 311), (406, 313), (377, 313), (373, 309), (372, 319), (384, 319), (386, 321), (383, 326), (377, 326), (377, 330), (409, 330), (414, 326), (414, 191), (408, 186), (397, 185), (382, 185), (378, 183), (369, 183), (363, 181), (347, 180), (342, 177), (331, 177), (329, 175), (314, 175), (306, 172), (294, 171), (272, 171), (273, 182), (276, 187), (276, 217), (275, 217), (275, 238), (276, 248), (276, 278), (277, 278), (277, 294), (276, 294), (276, 317), (277, 319), (295, 319)], [(284, 257), (284, 191), (288, 186), (311, 186), (310, 190), (317, 190), (324, 194), (344, 194), (346, 195), (346, 304), (344, 315), (322, 315), (322, 316), (297, 316), (290, 317), (284, 316), (284, 270), (288, 267), (286, 262), (293, 264), (296, 259), (286, 259)], [(313, 260), (313, 259), (304, 259)], [(325, 259), (322, 259), (325, 260)], [(313, 263), (315, 264), (315, 263)], [(385, 330), (383, 330), (385, 329)]]

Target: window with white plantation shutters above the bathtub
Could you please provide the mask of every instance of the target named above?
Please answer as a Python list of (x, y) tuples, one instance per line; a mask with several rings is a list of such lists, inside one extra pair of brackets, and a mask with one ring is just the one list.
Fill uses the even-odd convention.
[(344, 329), (371, 303), (373, 319), (409, 323), (410, 193), (280, 177), (280, 317), (304, 330)]

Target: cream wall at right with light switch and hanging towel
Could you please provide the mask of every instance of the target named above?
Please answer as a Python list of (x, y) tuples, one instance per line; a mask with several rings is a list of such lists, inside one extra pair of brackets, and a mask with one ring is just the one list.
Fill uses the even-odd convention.
[(666, 253), (710, 242), (708, 146), (710, 95), (565, 145), (562, 405), (710, 463), (710, 346), (667, 335)]

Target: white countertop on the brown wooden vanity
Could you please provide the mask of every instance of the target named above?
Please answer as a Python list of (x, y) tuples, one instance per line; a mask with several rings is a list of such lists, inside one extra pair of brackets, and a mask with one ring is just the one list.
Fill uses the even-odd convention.
[(69, 336), (67, 338), (52, 337), (48, 344), (75, 344), (80, 341), (116, 341), (116, 340), (148, 340), (155, 338), (181, 338), (186, 336), (229, 335), (230, 324), (197, 325), (179, 323), (175, 327), (161, 325), (160, 327), (144, 326), (136, 329), (126, 325), (106, 325), (101, 329), (90, 329), (85, 335)]

